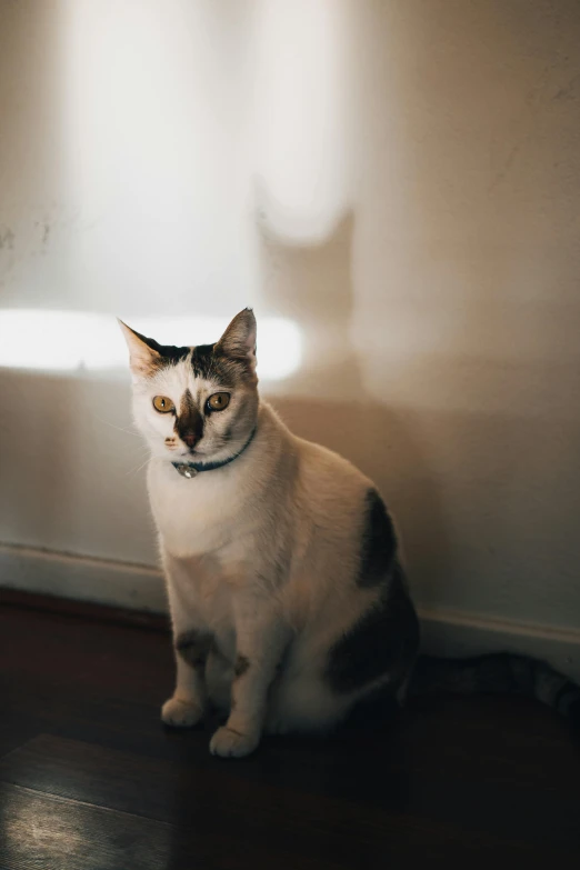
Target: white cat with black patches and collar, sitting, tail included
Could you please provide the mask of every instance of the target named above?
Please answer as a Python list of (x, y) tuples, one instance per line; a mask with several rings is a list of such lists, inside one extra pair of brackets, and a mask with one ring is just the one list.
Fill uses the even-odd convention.
[(251, 309), (197, 347), (119, 322), (173, 630), (166, 724), (192, 727), (211, 704), (227, 721), (210, 751), (240, 758), (263, 732), (324, 732), (377, 693), (472, 691), (481, 673), (483, 689), (580, 709), (577, 687), (542, 662), (418, 661), (393, 519), (371, 480), (259, 397)]

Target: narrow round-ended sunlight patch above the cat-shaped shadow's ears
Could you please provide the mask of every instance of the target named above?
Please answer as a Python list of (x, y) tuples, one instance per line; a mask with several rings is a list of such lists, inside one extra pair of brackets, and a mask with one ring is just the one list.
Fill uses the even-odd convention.
[(256, 2), (257, 206), (291, 241), (328, 236), (350, 201), (346, 31), (340, 0)]

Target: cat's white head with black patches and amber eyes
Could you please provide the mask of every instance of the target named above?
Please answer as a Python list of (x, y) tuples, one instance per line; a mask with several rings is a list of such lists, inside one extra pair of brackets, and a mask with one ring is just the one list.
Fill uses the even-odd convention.
[(119, 321), (130, 353), (133, 413), (156, 457), (222, 461), (256, 427), (256, 318), (240, 311), (214, 344), (159, 344)]

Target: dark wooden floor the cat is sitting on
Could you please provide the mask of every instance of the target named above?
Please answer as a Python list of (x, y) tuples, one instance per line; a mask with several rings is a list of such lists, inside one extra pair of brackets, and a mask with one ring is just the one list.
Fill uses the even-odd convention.
[(2, 870), (580, 858), (579, 752), (531, 702), (447, 700), (222, 761), (209, 730), (160, 724), (164, 633), (6, 602), (0, 680)]

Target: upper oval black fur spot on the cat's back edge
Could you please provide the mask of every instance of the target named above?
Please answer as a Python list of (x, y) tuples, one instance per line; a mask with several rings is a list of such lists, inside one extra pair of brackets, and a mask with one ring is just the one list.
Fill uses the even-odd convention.
[(366, 508), (357, 583), (369, 589), (387, 579), (397, 552), (397, 537), (392, 520), (377, 490), (368, 490)]

